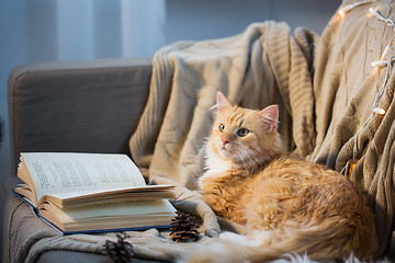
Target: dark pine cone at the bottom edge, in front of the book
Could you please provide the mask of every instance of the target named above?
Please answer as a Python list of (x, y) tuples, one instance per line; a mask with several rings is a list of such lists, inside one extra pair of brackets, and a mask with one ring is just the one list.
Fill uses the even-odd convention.
[(127, 235), (116, 235), (117, 241), (105, 240), (103, 252), (116, 263), (127, 263), (135, 255), (133, 245), (126, 242)]

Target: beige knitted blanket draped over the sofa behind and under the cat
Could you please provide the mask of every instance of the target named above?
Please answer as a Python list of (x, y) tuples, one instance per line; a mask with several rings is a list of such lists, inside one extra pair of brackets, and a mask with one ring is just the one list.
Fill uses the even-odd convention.
[[(359, 160), (350, 178), (366, 193), (380, 237), (375, 254), (383, 254), (393, 243), (394, 230), (394, 77), (392, 70), (377, 70), (371, 64), (380, 59), (394, 31), (369, 16), (370, 7), (395, 19), (390, 14), (395, 4), (379, 1), (361, 4), (342, 19), (335, 14), (319, 39), (309, 31), (297, 28), (291, 34), (286, 24), (267, 22), (251, 24), (234, 37), (160, 49), (154, 58), (147, 106), (129, 144), (143, 173), (154, 183), (177, 183), (173, 204), (200, 216), (203, 233), (215, 237), (232, 228), (242, 232), (236, 225), (219, 226), (192, 192), (202, 174), (200, 149), (213, 121), (210, 107), (217, 90), (246, 107), (276, 103), (280, 133), (290, 150), (338, 171)], [(380, 106), (386, 113), (377, 115), (372, 104), (382, 85)], [(65, 238), (29, 213), (18, 201), (9, 202), (13, 219), (5, 229), (7, 261), (32, 262), (50, 249), (98, 253), (106, 238)], [(131, 235), (138, 256), (169, 260), (182, 253), (182, 245), (153, 230)]]

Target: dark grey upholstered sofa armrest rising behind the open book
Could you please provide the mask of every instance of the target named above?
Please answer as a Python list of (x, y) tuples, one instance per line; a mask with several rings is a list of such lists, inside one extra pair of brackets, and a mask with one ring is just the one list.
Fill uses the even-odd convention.
[(12, 175), (21, 151), (129, 153), (150, 73), (148, 58), (13, 69), (8, 82)]

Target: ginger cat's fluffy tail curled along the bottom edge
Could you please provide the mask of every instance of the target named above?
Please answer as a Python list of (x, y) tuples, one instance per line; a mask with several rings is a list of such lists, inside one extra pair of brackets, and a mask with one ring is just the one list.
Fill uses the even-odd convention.
[(350, 254), (361, 260), (369, 256), (372, 229), (339, 229), (346, 225), (342, 219), (334, 219), (319, 226), (292, 226), (249, 237), (225, 233), (217, 241), (191, 245), (180, 262), (270, 262), (289, 253), (307, 254), (311, 260), (346, 260)]

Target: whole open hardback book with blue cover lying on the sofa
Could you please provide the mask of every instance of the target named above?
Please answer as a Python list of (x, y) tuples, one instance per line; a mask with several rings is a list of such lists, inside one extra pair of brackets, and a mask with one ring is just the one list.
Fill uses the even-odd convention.
[(146, 185), (126, 155), (21, 153), (15, 195), (63, 233), (160, 228), (173, 185)]

